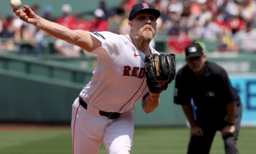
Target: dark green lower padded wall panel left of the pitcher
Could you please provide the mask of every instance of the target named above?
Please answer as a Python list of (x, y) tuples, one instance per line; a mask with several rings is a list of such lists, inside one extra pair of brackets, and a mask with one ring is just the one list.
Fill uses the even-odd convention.
[(0, 122), (68, 123), (83, 84), (0, 69)]

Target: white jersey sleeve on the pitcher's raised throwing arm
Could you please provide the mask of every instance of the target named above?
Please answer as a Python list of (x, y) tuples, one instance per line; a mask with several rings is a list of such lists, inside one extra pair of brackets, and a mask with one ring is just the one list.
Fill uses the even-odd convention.
[(107, 64), (118, 59), (122, 51), (121, 47), (124, 45), (120, 35), (108, 31), (90, 32), (90, 34), (102, 43), (101, 47), (91, 51), (92, 53), (97, 54)]

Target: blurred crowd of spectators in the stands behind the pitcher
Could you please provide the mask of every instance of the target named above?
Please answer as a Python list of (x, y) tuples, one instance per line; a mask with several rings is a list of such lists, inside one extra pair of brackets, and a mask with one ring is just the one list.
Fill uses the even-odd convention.
[[(72, 13), (69, 4), (63, 4), (61, 16), (52, 15), (52, 7), (31, 8), (49, 21), (70, 29), (111, 31), (129, 34), (128, 16), (137, 0), (122, 0), (118, 7), (109, 8), (101, 1), (92, 14)], [(184, 47), (201, 41), (206, 51), (256, 53), (256, 1), (253, 0), (145, 0), (161, 12), (157, 20), (156, 36), (167, 36), (165, 49), (182, 54)], [(56, 53), (73, 57), (82, 50), (68, 42), (53, 40), (43, 31), (26, 24), (13, 14), (3, 18), (0, 14), (0, 50), (17, 53), (41, 54), (52, 43)], [(49, 43), (50, 42), (50, 43)], [(152, 46), (157, 49), (158, 42)], [(158, 50), (158, 49), (157, 49)]]

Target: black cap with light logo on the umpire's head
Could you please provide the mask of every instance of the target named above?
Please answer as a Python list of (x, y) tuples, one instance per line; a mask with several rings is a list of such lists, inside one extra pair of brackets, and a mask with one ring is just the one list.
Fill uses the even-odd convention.
[(185, 47), (186, 59), (200, 57), (204, 55), (203, 48), (199, 43), (194, 43)]

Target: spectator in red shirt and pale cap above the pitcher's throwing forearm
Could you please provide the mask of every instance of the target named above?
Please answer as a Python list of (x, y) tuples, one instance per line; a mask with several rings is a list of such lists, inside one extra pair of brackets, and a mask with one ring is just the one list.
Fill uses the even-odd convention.
[(74, 24), (75, 21), (74, 16), (71, 15), (72, 7), (69, 4), (63, 4), (61, 11), (63, 14), (61, 17), (57, 18), (56, 23), (71, 28), (71, 25)]

